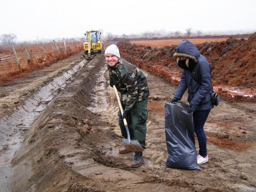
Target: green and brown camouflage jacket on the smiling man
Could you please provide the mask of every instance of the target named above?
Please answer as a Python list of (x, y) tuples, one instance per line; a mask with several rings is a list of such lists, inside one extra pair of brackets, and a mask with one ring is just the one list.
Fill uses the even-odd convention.
[(136, 66), (120, 58), (115, 66), (108, 65), (108, 70), (110, 85), (115, 85), (121, 93), (125, 110), (130, 110), (136, 101), (148, 98), (147, 79)]

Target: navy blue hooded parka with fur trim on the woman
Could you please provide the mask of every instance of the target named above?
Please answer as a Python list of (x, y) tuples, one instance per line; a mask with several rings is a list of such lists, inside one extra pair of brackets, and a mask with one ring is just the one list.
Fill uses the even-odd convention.
[(211, 83), (211, 68), (210, 64), (202, 56), (196, 46), (188, 40), (183, 40), (178, 45), (174, 57), (186, 57), (191, 58), (196, 63), (196, 69), (200, 75), (200, 84), (194, 80), (191, 76), (191, 71), (184, 69), (182, 72), (180, 84), (174, 94), (174, 97), (181, 100), (184, 92), (188, 88), (188, 102), (194, 106), (197, 106), (196, 110), (208, 110), (212, 109), (211, 95), (212, 95), (212, 83)]

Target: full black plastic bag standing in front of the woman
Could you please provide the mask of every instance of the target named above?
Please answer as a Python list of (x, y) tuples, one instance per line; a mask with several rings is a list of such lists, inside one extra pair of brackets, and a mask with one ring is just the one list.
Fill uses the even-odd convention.
[(193, 112), (184, 102), (165, 104), (165, 136), (170, 168), (201, 170), (197, 165)]

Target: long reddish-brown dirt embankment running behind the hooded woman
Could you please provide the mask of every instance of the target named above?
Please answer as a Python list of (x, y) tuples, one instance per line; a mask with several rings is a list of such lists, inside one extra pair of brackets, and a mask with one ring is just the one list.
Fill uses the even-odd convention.
[[(212, 84), (215, 91), (230, 101), (256, 100), (256, 33), (248, 40), (229, 38), (224, 42), (205, 42), (196, 45), (212, 66)], [(160, 76), (170, 83), (178, 84), (182, 70), (173, 54), (177, 46), (163, 48), (138, 46), (119, 42), (121, 55), (130, 62)], [(245, 90), (244, 96), (228, 92), (225, 87)], [(250, 96), (247, 96), (250, 95)]]

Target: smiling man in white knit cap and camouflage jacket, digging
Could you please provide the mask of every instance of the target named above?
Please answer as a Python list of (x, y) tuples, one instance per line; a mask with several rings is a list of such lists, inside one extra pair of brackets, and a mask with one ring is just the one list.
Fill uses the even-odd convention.
[[(110, 86), (115, 86), (121, 93), (123, 115), (118, 112), (119, 126), (124, 138), (128, 138), (124, 119), (128, 124), (130, 139), (138, 141), (138, 145), (144, 150), (146, 142), (146, 120), (148, 119), (148, 82), (145, 75), (134, 65), (120, 58), (118, 47), (114, 44), (105, 50), (105, 58), (108, 63)], [(135, 151), (132, 167), (139, 167), (143, 163), (142, 150)], [(126, 147), (119, 153), (130, 152)]]

